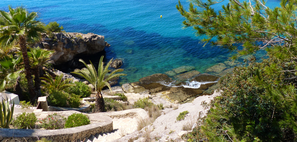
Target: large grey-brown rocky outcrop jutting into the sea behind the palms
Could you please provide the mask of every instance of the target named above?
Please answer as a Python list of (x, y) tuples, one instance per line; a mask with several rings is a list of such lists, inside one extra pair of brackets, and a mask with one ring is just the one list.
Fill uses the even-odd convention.
[(95, 54), (110, 46), (104, 36), (93, 33), (52, 33), (43, 35), (43, 42), (34, 45), (55, 50), (52, 60), (56, 65), (72, 60), (76, 55)]

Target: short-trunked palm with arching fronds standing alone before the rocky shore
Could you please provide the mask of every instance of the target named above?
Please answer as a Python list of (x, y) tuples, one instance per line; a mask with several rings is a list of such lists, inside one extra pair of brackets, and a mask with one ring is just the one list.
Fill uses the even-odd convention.
[(104, 112), (105, 111), (104, 99), (101, 94), (103, 87), (107, 86), (111, 90), (111, 86), (108, 83), (108, 81), (111, 80), (112, 78), (116, 78), (116, 77), (126, 75), (126, 74), (122, 74), (122, 73), (115, 74), (117, 72), (123, 71), (123, 69), (116, 69), (116, 70), (112, 71), (110, 74), (107, 74), (108, 72), (110, 72), (110, 70), (108, 70), (108, 67), (111, 64), (112, 59), (106, 64), (105, 67), (103, 67), (103, 65), (104, 65), (103, 56), (101, 56), (101, 58), (100, 58), (99, 65), (98, 65), (98, 71), (96, 71), (96, 69), (91, 61), (90, 61), (91, 64), (86, 64), (84, 62), (84, 60), (82, 60), (82, 59), (79, 59), (79, 61), (82, 62), (83, 64), (85, 64), (86, 67), (82, 68), (81, 70), (75, 69), (72, 73), (81, 75), (95, 87), (95, 90), (97, 91), (96, 103), (95, 103), (96, 109), (100, 112)]

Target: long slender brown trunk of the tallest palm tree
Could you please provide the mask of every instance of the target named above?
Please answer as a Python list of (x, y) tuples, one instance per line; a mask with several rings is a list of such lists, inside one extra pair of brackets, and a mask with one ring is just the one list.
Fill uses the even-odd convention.
[(30, 101), (32, 104), (34, 104), (36, 101), (36, 90), (32, 80), (31, 65), (30, 65), (28, 53), (27, 53), (26, 39), (21, 36), (19, 41), (20, 41), (21, 51), (22, 51), (23, 60), (24, 60), (26, 78), (28, 81), (29, 94), (31, 96)]

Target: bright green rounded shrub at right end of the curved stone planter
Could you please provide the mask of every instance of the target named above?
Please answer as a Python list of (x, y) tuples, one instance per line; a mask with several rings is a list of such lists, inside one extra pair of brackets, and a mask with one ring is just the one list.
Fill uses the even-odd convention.
[(90, 120), (87, 115), (81, 113), (74, 113), (68, 117), (65, 122), (65, 128), (78, 127), (90, 124)]

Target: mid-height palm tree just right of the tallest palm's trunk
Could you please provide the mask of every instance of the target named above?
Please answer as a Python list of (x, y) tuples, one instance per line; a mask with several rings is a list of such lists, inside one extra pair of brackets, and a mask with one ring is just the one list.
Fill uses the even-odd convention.
[(28, 52), (29, 59), (32, 62), (32, 69), (33, 74), (35, 75), (34, 81), (35, 81), (35, 89), (37, 92), (37, 96), (41, 96), (41, 89), (40, 89), (40, 71), (42, 70), (42, 67), (47, 64), (54, 63), (51, 60), (51, 56), (55, 51), (47, 50), (47, 49), (41, 49), (39, 47), (37, 48), (30, 48), (31, 51)]

